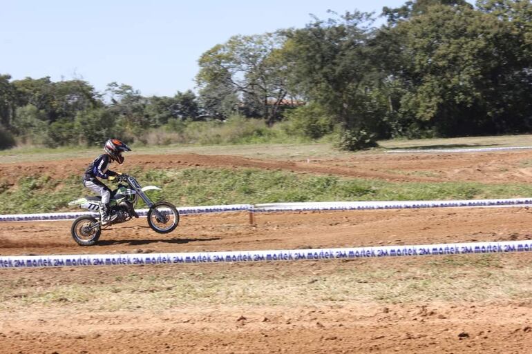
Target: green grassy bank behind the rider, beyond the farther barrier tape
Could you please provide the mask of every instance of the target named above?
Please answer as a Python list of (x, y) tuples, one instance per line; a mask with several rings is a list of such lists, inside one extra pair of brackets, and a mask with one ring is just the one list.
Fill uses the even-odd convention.
[[(439, 200), (529, 197), (530, 184), (478, 182), (389, 182), (285, 171), (229, 168), (129, 170), (143, 186), (155, 185), (154, 200), (177, 206), (260, 204), (294, 201)], [(78, 176), (67, 179), (23, 177), (0, 181), (0, 213), (72, 210), (68, 201), (90, 195)], [(111, 184), (110, 184), (111, 186)]]

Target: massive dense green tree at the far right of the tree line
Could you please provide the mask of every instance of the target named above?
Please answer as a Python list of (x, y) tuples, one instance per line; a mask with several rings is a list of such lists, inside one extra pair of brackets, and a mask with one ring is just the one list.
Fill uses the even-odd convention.
[(469, 6), (436, 5), (397, 30), (410, 58), (401, 72), (408, 84), (404, 115), (430, 122), (444, 136), (526, 126), (531, 73), (514, 54), (519, 44), (508, 23)]

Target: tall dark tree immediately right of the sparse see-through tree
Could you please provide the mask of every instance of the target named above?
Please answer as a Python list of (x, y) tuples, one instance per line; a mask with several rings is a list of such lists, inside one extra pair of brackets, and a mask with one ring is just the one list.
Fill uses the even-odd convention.
[(293, 59), (292, 82), (302, 95), (316, 101), (341, 124), (345, 134), (360, 144), (345, 148), (374, 146), (378, 121), (364, 110), (368, 95), (377, 89), (376, 70), (372, 63), (373, 36), (370, 14), (346, 12), (336, 19), (315, 19), (305, 28), (287, 33), (286, 50)]

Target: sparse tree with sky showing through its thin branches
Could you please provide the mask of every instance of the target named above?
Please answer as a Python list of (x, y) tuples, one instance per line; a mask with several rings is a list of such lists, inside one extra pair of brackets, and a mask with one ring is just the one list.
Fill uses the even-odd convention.
[[(213, 99), (227, 104), (240, 95), (240, 99), (245, 97), (244, 104), (254, 107), (250, 112), (266, 117), (271, 125), (288, 94), (287, 67), (281, 50), (284, 41), (280, 33), (238, 35), (207, 50), (200, 57), (196, 77), (200, 95), (207, 95), (202, 101), (208, 106)], [(223, 110), (218, 106), (216, 111)]]

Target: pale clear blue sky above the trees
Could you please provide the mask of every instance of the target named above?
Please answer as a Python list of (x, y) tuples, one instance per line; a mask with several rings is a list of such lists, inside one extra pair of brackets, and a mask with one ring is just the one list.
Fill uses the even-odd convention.
[(406, 0), (0, 0), (0, 74), (13, 79), (112, 81), (142, 95), (193, 89), (200, 55), (232, 35), (301, 28), (358, 9), (381, 13)]

